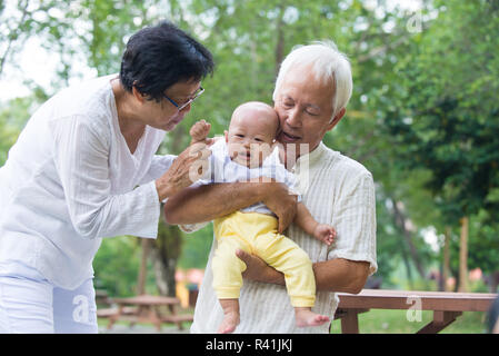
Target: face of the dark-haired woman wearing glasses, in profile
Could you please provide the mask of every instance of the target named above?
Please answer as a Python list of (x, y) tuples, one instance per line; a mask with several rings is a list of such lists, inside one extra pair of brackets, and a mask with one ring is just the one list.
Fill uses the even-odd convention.
[[(200, 87), (200, 81), (179, 81), (168, 88), (164, 91), (164, 95), (177, 102), (177, 105), (182, 106), (194, 96)], [(191, 103), (187, 105), (179, 111), (178, 108), (170, 102), (170, 100), (162, 98), (159, 102), (156, 100), (143, 100), (142, 109), (142, 117), (146, 121), (144, 123), (157, 129), (171, 131), (190, 111)]]

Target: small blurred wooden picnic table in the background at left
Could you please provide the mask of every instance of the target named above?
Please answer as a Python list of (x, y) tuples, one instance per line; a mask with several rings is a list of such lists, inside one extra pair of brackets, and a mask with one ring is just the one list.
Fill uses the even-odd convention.
[[(129, 320), (134, 323), (151, 323), (158, 332), (161, 330), (162, 323), (174, 323), (181, 330), (182, 322), (192, 322), (193, 316), (188, 314), (177, 314), (177, 306), (180, 300), (173, 297), (140, 295), (131, 298), (112, 298), (118, 305), (116, 313), (109, 315), (108, 329), (118, 320)], [(169, 313), (164, 313), (168, 307)]]

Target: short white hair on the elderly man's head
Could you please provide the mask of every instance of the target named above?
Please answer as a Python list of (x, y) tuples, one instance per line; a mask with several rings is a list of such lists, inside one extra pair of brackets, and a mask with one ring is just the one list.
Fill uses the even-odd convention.
[(273, 90), (273, 101), (280, 89), (283, 78), (292, 68), (312, 66), (313, 79), (335, 86), (332, 99), (331, 120), (343, 109), (350, 100), (352, 92), (351, 67), (347, 56), (338, 50), (331, 40), (315, 41), (307, 46), (296, 46), (282, 61)]

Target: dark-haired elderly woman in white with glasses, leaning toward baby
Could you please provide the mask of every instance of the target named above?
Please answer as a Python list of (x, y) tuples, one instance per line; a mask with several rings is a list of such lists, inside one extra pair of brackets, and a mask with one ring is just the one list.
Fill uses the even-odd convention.
[[(156, 238), (160, 202), (199, 156), (154, 156), (212, 73), (171, 23), (133, 34), (119, 76), (66, 89), (31, 117), (0, 169), (0, 332), (96, 333), (102, 237)], [(199, 162), (198, 162), (199, 164)]]

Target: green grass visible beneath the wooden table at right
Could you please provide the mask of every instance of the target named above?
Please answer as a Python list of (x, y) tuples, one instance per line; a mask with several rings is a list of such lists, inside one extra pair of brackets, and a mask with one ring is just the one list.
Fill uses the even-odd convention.
[[(407, 310), (371, 309), (359, 314), (359, 333), (361, 334), (413, 334), (431, 322), (433, 313), (423, 310), (421, 322), (409, 322)], [(483, 334), (486, 333), (487, 313), (465, 312), (456, 322), (440, 334)], [(341, 333), (341, 322), (335, 320), (332, 334)]]

